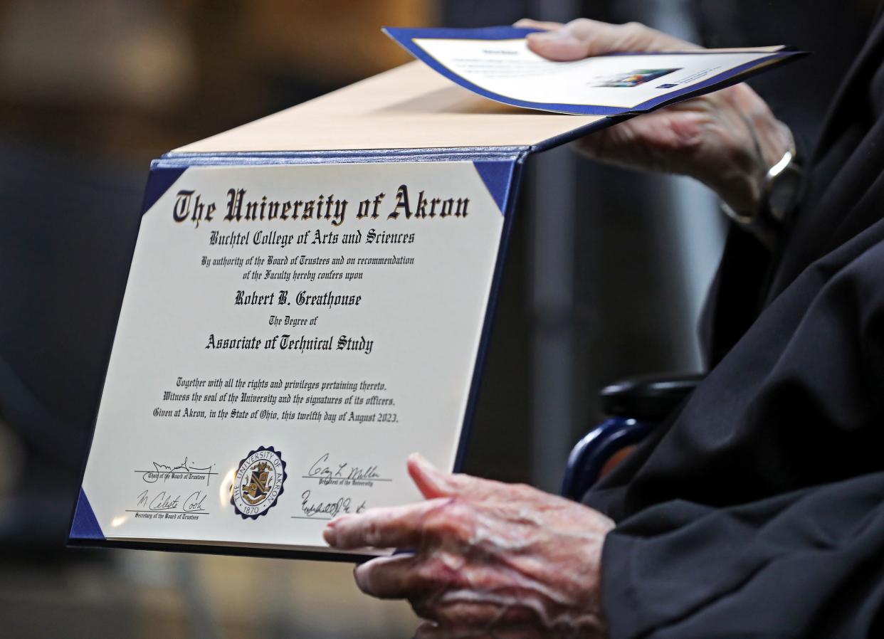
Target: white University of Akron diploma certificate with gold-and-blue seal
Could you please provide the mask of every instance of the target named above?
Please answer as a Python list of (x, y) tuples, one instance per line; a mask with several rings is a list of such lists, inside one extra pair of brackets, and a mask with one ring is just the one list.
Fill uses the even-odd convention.
[(419, 499), (408, 453), (461, 445), (513, 166), (183, 171), (142, 218), (83, 479), (103, 537), (331, 552), (336, 515)]

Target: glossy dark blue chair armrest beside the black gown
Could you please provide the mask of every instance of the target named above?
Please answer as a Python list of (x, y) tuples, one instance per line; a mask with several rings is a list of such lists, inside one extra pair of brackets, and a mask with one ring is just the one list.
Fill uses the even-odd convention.
[(603, 388), (607, 420), (581, 439), (568, 457), (561, 494), (579, 501), (670, 415), (703, 379), (700, 374), (631, 377)]

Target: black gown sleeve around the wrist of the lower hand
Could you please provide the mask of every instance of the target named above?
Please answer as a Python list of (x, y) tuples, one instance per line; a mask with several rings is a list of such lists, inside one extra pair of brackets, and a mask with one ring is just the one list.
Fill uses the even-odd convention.
[(884, 473), (743, 506), (670, 502), (608, 536), (613, 639), (884, 636)]

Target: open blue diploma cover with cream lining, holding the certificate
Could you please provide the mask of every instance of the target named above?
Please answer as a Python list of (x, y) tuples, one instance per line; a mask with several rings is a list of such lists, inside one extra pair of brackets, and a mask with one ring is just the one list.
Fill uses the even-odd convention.
[(524, 163), (637, 111), (451, 80), (415, 61), (151, 164), (72, 544), (363, 559), (325, 523), (419, 499), (408, 453), (461, 467)]

